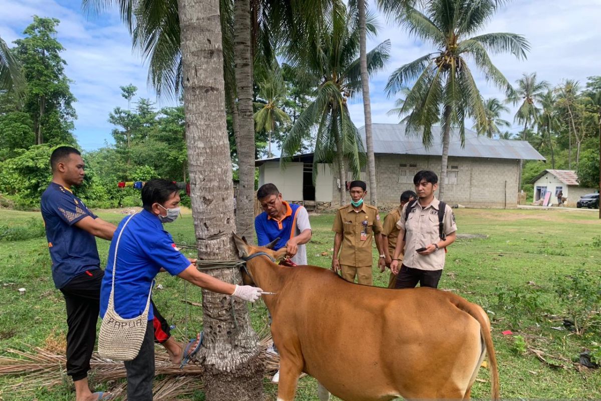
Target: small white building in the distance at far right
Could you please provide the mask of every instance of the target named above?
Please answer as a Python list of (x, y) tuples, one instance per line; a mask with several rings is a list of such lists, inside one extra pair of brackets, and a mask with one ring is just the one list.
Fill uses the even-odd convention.
[(534, 184), (534, 201), (544, 200), (547, 192), (551, 191), (549, 205), (557, 206), (557, 194), (563, 192), (567, 198), (564, 206), (576, 207), (576, 202), (582, 195), (597, 192), (597, 188), (584, 188), (578, 185), (578, 176), (574, 170), (543, 170), (530, 183)]

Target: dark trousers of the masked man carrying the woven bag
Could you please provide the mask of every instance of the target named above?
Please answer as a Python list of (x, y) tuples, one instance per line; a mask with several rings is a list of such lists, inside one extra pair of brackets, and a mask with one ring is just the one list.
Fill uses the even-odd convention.
[(152, 401), (152, 381), (154, 379), (154, 328), (148, 320), (146, 335), (138, 356), (125, 361), (127, 372), (127, 400)]

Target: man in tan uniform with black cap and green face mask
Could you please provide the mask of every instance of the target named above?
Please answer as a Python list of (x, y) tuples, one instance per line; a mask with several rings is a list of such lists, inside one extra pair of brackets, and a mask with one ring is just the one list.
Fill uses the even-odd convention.
[[(364, 203), (367, 185), (363, 181), (350, 183), (350, 205), (340, 207), (334, 218), (334, 256), (332, 270), (340, 271), (346, 281), (353, 283), (355, 276), (359, 284), (373, 284), (371, 266), (373, 254), (371, 239), (376, 237), (380, 258), (382, 248), (382, 223), (377, 208)], [(338, 252), (340, 251), (340, 255)]]

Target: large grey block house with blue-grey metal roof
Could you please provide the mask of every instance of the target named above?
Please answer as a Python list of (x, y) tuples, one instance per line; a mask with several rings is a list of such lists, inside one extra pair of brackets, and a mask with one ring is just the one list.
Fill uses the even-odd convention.
[[(383, 208), (398, 204), (403, 191), (414, 189), (413, 176), (419, 170), (441, 171), (441, 127), (432, 127), (430, 147), (405, 128), (404, 124), (373, 124), (378, 203)], [(364, 127), (359, 132), (365, 144)], [(468, 207), (516, 207), (520, 159), (545, 160), (527, 141), (487, 138), (466, 129), (462, 146), (459, 133), (451, 131), (444, 201)], [(345, 183), (328, 164), (318, 164), (313, 184), (313, 153), (294, 156), (285, 168), (279, 158), (261, 159), (255, 165), (259, 185), (274, 183), (285, 200), (340, 203)], [(368, 182), (367, 174), (361, 176)]]

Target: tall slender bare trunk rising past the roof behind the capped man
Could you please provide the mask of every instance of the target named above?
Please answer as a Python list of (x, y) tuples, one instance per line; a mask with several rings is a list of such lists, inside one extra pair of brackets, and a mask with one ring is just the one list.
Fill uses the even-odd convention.
[(361, 69), (361, 86), (363, 88), (363, 114), (365, 117), (365, 146), (367, 147), (367, 171), (370, 183), (370, 202), (377, 205), (376, 156), (374, 140), (371, 132), (371, 100), (370, 80), (367, 74), (367, 49), (365, 48), (365, 1), (358, 0), (359, 9), (359, 68)]

